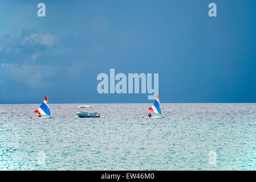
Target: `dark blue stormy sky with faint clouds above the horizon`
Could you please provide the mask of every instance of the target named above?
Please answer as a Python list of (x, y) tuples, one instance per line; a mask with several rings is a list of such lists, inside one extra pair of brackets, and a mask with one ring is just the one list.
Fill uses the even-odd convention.
[(112, 68), (159, 73), (160, 102), (256, 102), (256, 1), (0, 1), (0, 104), (153, 102), (99, 94)]

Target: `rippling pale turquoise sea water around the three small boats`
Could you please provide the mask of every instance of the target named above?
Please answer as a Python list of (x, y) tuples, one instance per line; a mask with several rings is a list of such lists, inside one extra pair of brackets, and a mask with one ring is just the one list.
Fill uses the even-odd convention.
[(80, 104), (0, 105), (2, 170), (256, 169), (256, 104), (91, 104), (101, 118), (75, 118)]

